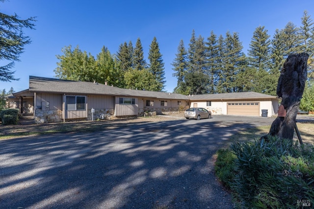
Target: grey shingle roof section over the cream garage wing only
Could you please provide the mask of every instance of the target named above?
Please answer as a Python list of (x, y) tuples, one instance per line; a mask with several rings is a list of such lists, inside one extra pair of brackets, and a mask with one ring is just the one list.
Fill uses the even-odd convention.
[(213, 94), (197, 94), (190, 95), (189, 99), (193, 100), (233, 100), (233, 99), (270, 99), (278, 98), (264, 93), (256, 92), (234, 92), (234, 93), (213, 93)]

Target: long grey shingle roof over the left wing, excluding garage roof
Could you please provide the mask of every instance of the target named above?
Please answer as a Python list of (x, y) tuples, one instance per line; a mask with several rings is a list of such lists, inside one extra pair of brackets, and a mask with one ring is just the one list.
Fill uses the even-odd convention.
[(29, 76), (29, 92), (36, 93), (79, 93), (112, 96), (136, 96), (163, 99), (186, 99), (180, 93), (151, 92), (143, 90), (122, 89), (105, 84), (70, 81), (56, 78)]

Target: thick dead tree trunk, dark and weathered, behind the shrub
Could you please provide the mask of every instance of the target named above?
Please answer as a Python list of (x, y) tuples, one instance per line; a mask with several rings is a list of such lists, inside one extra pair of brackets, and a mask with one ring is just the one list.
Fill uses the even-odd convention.
[(277, 86), (277, 95), (282, 98), (281, 105), (285, 113), (278, 113), (278, 117), (271, 124), (268, 136), (279, 139), (293, 139), (296, 115), (307, 79), (307, 53), (290, 54), (281, 70)]

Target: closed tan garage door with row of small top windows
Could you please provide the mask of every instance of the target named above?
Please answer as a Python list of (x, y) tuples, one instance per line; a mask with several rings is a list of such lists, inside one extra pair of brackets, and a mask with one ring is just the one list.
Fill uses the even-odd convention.
[(261, 116), (259, 102), (230, 102), (227, 105), (227, 115)]

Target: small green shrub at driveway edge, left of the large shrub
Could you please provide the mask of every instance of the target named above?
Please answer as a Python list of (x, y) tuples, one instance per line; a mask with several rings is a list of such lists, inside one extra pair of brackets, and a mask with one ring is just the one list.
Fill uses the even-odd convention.
[(219, 149), (215, 162), (215, 173), (224, 186), (230, 188), (234, 178), (235, 154), (230, 149)]

